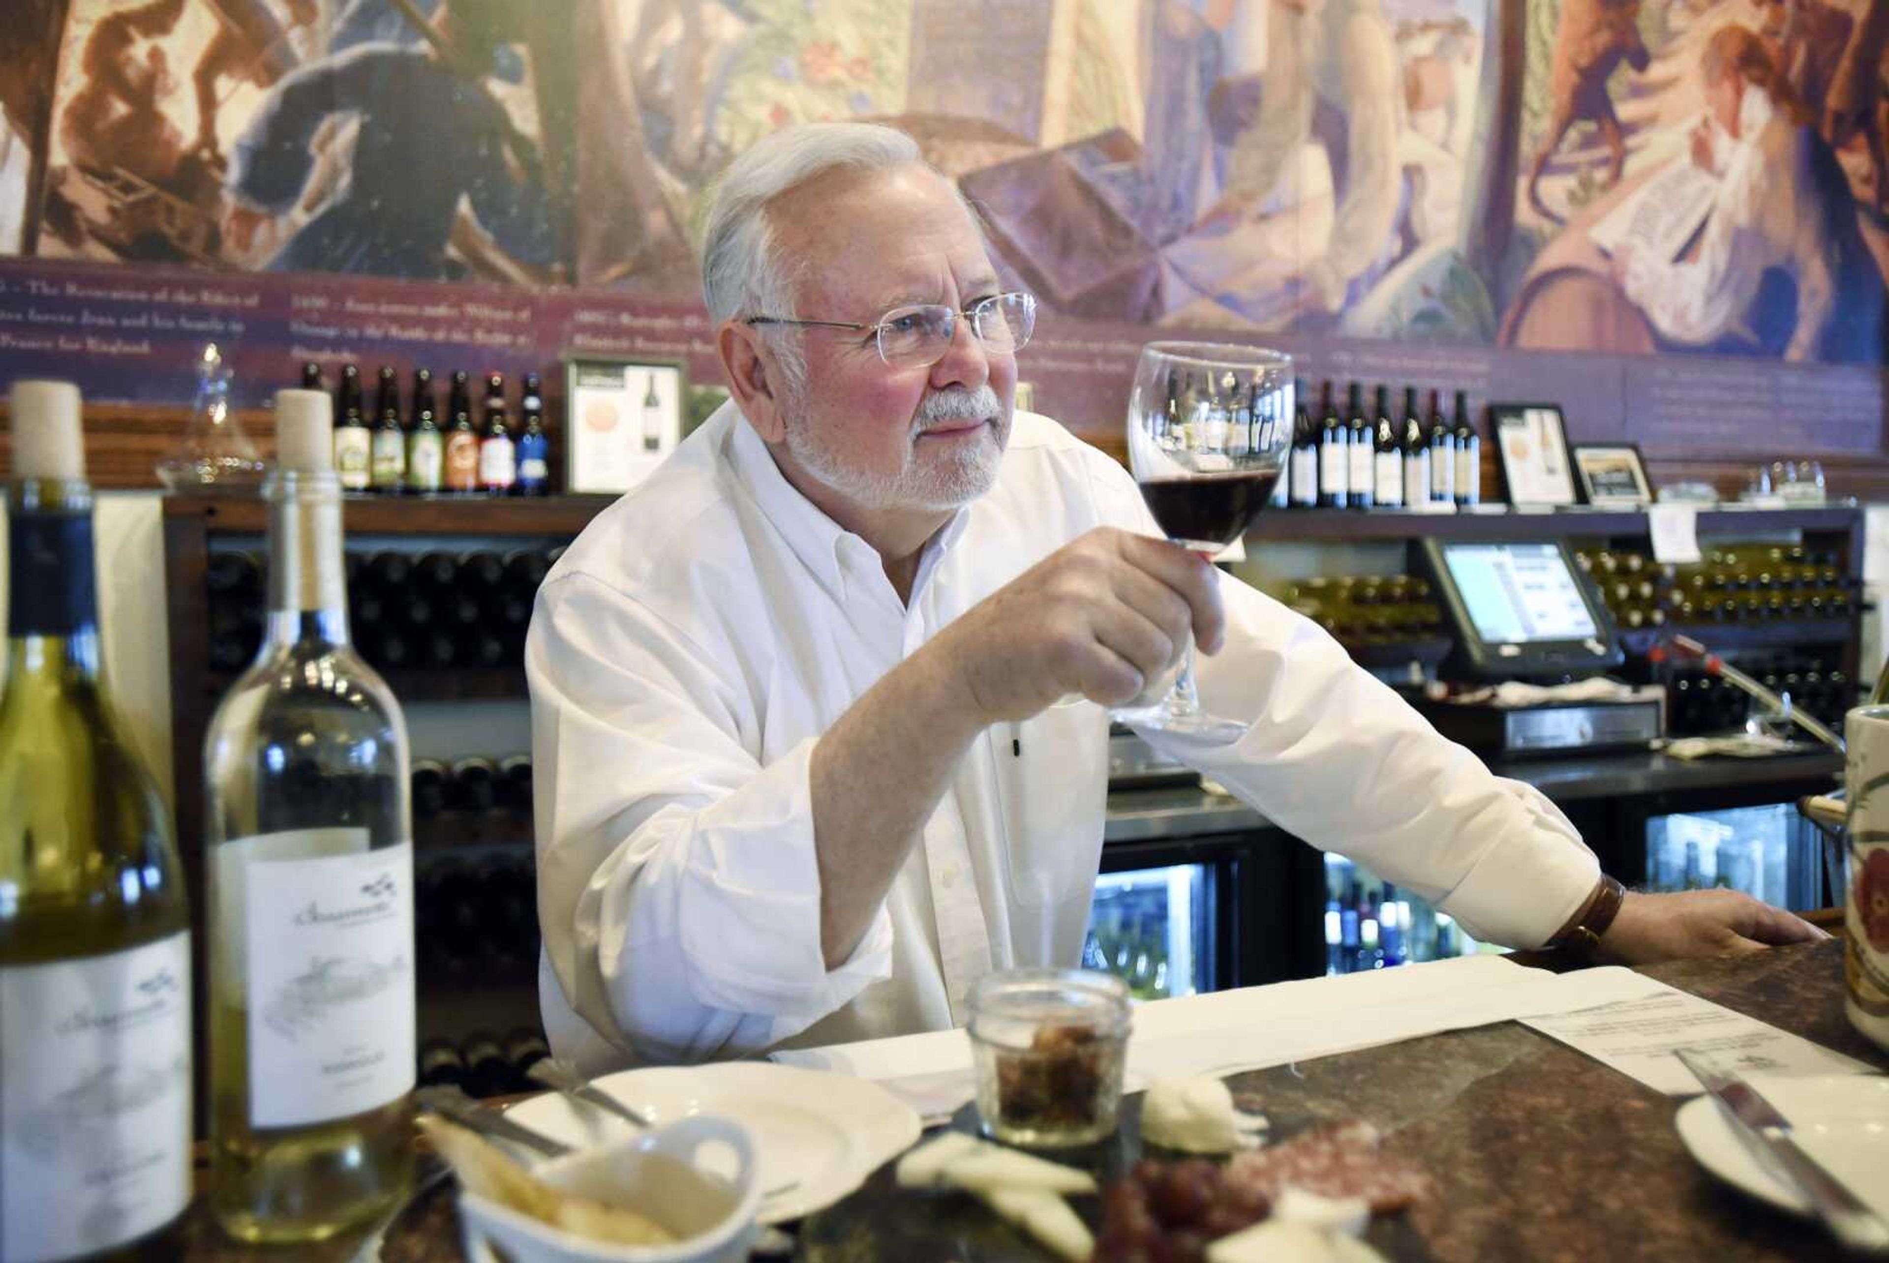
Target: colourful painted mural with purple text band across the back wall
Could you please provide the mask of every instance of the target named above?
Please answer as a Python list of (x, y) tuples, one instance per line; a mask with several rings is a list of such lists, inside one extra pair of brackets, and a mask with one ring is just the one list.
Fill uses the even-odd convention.
[[(1045, 306), (1024, 376), (1084, 434), (1141, 342), (1213, 334), (1560, 400), (1655, 470), (1819, 455), (1864, 487), (1885, 2), (417, 0), (421, 32), (395, 0), (13, 0), (0, 378), (153, 427), (206, 338), (251, 406), (308, 359), (712, 381), (705, 189), (784, 123), (871, 117), (982, 206)], [(1704, 230), (1623, 249), (1636, 198), (1683, 200), (1723, 26), (1766, 32), (1817, 123), (1717, 142)]]

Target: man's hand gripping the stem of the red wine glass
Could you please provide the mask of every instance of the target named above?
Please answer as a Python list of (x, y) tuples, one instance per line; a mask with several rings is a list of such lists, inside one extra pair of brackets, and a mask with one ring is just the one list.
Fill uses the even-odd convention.
[(1133, 700), (1186, 648), (1226, 634), (1213, 563), (1103, 527), (1016, 576), (933, 640), (977, 723), (1028, 719), (1081, 693)]

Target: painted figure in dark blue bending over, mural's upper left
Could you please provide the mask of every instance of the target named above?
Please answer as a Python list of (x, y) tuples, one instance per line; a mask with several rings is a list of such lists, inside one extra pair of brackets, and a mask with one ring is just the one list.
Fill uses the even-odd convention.
[(230, 155), (227, 232), (238, 251), (297, 208), (317, 134), (331, 117), (353, 113), (348, 177), (268, 268), (446, 279), (448, 244), (459, 247), (468, 232), (461, 198), (480, 245), (489, 238), (514, 262), (553, 262), (536, 155), (484, 87), (508, 42), (504, 6), (455, 0), (434, 26), (450, 51), (361, 43), (270, 89)]

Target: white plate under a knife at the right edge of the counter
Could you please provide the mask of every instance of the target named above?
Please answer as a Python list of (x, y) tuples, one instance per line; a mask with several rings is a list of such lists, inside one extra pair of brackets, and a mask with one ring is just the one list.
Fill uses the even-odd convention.
[[(1825, 1170), (1878, 1212), (1889, 1204), (1889, 1195), (1881, 1191), (1881, 1172), (1889, 1169), (1889, 1076), (1753, 1074), (1751, 1084), (1791, 1120), (1798, 1146)], [(1700, 1167), (1779, 1210), (1810, 1214), (1802, 1195), (1732, 1131), (1717, 1101), (1687, 1101), (1674, 1123)]]

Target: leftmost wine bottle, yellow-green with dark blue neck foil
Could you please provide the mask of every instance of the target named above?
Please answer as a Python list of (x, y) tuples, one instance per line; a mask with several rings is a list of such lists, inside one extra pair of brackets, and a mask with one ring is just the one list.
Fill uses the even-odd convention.
[(0, 1259), (176, 1257), (191, 914), (98, 659), (79, 391), (13, 383), (0, 695)]

